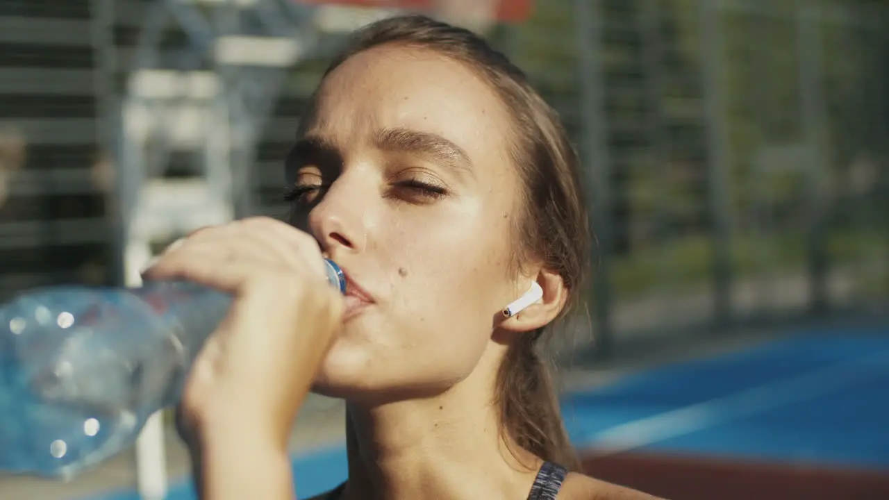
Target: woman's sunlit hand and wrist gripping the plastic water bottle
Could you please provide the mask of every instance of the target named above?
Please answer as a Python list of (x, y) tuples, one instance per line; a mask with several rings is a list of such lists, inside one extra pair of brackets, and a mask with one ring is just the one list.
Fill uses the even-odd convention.
[(232, 222), (174, 244), (145, 278), (186, 279), (235, 297), (183, 393), (180, 415), (198, 440), (247, 432), (286, 447), (343, 310), (315, 238), (268, 218)]

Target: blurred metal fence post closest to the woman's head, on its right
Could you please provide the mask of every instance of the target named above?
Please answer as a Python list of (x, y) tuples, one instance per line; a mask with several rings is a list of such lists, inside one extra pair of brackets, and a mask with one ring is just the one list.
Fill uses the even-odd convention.
[(599, 0), (574, 0), (574, 31), (581, 83), (581, 154), (590, 221), (598, 244), (598, 261), (590, 290), (595, 312), (595, 349), (607, 356), (612, 347), (612, 224), (611, 165), (605, 127), (605, 85), (599, 60), (602, 57)]

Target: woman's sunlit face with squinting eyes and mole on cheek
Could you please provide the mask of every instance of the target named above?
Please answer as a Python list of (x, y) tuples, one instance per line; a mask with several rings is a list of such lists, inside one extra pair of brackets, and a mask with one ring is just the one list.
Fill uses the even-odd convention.
[(435, 52), (378, 47), (324, 79), (287, 162), (293, 222), (351, 280), (316, 391), (434, 394), (493, 348), (524, 291), (510, 277), (509, 123), (472, 69)]

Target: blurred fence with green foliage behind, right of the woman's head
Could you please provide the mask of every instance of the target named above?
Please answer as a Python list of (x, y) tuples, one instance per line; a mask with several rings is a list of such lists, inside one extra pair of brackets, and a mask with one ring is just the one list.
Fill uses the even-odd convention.
[(517, 29), (511, 50), (586, 159), (600, 343), (885, 311), (886, 13), (553, 2)]

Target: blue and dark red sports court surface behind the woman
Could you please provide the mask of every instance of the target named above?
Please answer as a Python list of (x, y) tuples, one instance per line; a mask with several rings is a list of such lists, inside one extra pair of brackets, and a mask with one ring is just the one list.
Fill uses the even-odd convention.
[[(656, 495), (889, 500), (889, 330), (807, 331), (637, 372), (567, 394), (564, 412), (591, 474)], [(293, 464), (300, 497), (346, 476), (342, 448)], [(178, 484), (168, 498), (193, 497)]]

